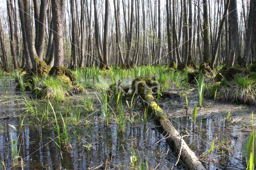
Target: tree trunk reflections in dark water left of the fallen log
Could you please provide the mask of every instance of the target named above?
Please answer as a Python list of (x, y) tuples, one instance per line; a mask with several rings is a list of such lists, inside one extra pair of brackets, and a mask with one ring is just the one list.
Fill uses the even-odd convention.
[[(10, 130), (8, 124), (20, 124), (19, 118), (2, 121), (0, 126), (4, 129), (0, 133), (0, 154), (4, 159), (6, 168), (11, 168), (11, 148), (10, 148)], [(117, 165), (120, 169), (130, 167), (130, 148), (133, 144), (136, 150), (138, 161), (148, 161), (150, 168), (158, 166), (159, 169), (171, 168), (176, 162), (176, 155), (170, 150), (169, 144), (161, 140), (154, 144), (163, 135), (157, 129), (150, 129), (156, 126), (154, 122), (148, 122), (146, 128), (142, 124), (126, 124), (124, 134), (119, 134), (116, 125), (104, 127), (102, 123), (93, 122), (87, 125), (72, 127), (72, 150), (62, 148), (62, 158), (60, 150), (51, 138), (56, 137), (56, 132), (40, 125), (24, 126), (22, 130), (22, 146), (20, 155), (28, 169), (87, 169), (95, 168), (108, 157), (108, 166), (115, 168)], [(13, 131), (13, 130), (12, 130)], [(18, 132), (14, 132), (15, 138)], [(56, 139), (55, 139), (56, 140)], [(93, 144), (93, 147), (86, 149), (83, 145)], [(153, 144), (150, 147), (149, 145)], [(19, 146), (18, 146), (19, 147)], [(168, 151), (168, 153), (167, 153)], [(159, 164), (159, 165), (158, 165)], [(177, 169), (184, 168), (178, 165)]]

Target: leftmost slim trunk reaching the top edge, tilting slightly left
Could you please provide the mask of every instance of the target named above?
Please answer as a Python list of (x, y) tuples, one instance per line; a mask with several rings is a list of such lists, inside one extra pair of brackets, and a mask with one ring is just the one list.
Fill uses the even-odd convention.
[(8, 19), (9, 19), (9, 29), (10, 29), (10, 45), (11, 45), (11, 54), (13, 59), (13, 66), (14, 69), (18, 68), (17, 64), (17, 58), (16, 58), (16, 47), (15, 47), (15, 38), (14, 38), (14, 26), (13, 26), (13, 20), (12, 20), (12, 10), (10, 6), (9, 0), (6, 0), (7, 2), (7, 13), (8, 13)]

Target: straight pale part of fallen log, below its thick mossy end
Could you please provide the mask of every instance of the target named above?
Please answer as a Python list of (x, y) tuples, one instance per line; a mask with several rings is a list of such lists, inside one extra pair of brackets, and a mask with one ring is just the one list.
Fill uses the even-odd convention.
[[(188, 147), (188, 145), (180, 136), (178, 131), (174, 128), (172, 123), (169, 121), (168, 117), (166, 117), (162, 109), (155, 102), (155, 99), (152, 95), (152, 90), (146, 90), (146, 93), (144, 93), (142, 97), (144, 98), (146, 103), (148, 103), (149, 109), (156, 116), (156, 120), (158, 121), (158, 123), (160, 123), (164, 132), (167, 133), (167, 136), (170, 136), (168, 140), (170, 141), (172, 146), (174, 146), (174, 151), (176, 152), (176, 154), (180, 154), (180, 159), (185, 164), (186, 168), (189, 170), (205, 170), (204, 166), (198, 160), (194, 152)], [(180, 150), (181, 150), (181, 153), (180, 153)]]

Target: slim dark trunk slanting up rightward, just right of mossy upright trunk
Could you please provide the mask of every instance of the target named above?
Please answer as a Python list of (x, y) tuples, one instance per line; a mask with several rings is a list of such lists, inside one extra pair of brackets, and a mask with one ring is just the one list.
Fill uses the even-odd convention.
[(218, 31), (218, 37), (217, 37), (217, 40), (216, 40), (215, 45), (214, 45), (214, 53), (213, 53), (212, 61), (211, 61), (211, 64), (210, 64), (210, 67), (212, 69), (214, 69), (214, 65), (215, 65), (215, 62), (216, 62), (216, 59), (217, 59), (217, 51), (218, 51), (219, 44), (220, 44), (220, 36), (221, 36), (221, 33), (222, 33), (224, 22), (225, 22), (225, 20), (227, 18), (227, 12), (228, 12), (229, 3), (230, 3), (230, 0), (227, 0), (226, 6), (225, 6), (225, 10), (224, 10), (224, 14), (223, 14), (221, 22), (220, 22), (220, 27), (219, 27), (219, 31)]

